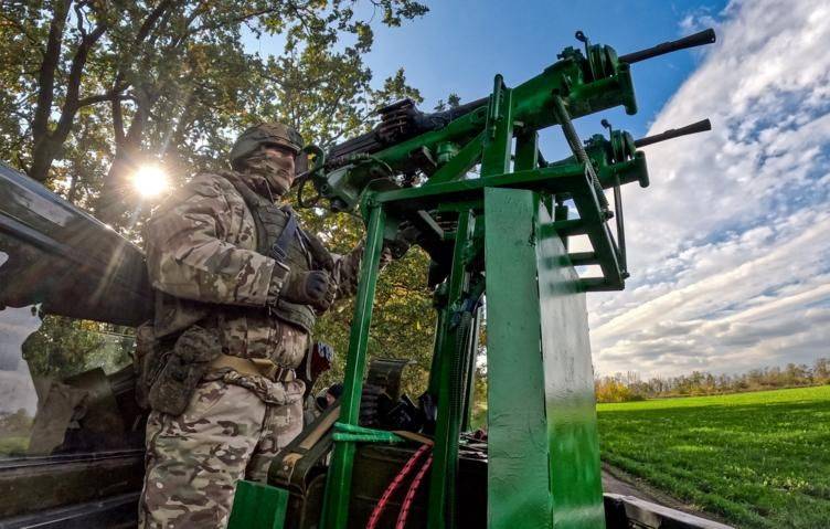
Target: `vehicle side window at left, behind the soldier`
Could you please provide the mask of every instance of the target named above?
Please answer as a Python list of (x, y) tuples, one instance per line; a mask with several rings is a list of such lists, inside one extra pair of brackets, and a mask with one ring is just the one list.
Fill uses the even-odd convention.
[(134, 348), (130, 327), (0, 307), (0, 458), (140, 447)]

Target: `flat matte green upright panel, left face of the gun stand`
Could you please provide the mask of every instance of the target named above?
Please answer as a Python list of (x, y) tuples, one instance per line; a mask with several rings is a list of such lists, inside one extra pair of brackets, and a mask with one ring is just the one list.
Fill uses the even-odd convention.
[(551, 528), (531, 192), (485, 190), (488, 527)]

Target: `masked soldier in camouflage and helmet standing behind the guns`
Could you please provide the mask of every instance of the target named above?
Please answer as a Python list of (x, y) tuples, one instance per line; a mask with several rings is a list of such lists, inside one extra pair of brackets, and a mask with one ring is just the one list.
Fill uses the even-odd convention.
[(152, 409), (140, 527), (224, 527), (235, 483), (265, 480), (302, 429), (295, 369), (316, 317), (354, 293), (363, 247), (332, 255), (275, 203), (300, 146), (281, 124), (245, 130), (233, 170), (196, 174), (147, 224), (157, 301), (137, 352)]

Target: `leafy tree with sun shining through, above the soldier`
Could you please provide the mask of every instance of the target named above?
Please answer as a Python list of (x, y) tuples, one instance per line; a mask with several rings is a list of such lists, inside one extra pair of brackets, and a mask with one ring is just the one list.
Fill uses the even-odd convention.
[[(180, 177), (215, 163), (241, 127), (304, 109), (292, 105), (297, 96), (319, 98), (332, 110), (324, 119), (333, 126), (305, 127), (320, 135), (309, 139), (329, 141), (332, 127), (348, 134), (365, 121), (375, 95), (369, 87), (371, 72), (362, 62), (373, 43), (372, 30), (355, 14), (358, 3), (53, 0), (13, 2), (8, 9), (4, 4), (0, 38), (10, 45), (0, 53), (0, 80), (9, 89), (0, 96), (0, 155), (40, 182), (54, 183), (57, 177), (61, 183), (55, 188), (94, 209), (105, 222), (118, 224), (136, 207), (125, 190), (137, 163), (169, 162)], [(413, 0), (372, 0), (371, 4), (387, 25), (401, 25), (427, 11)], [(365, 14), (374, 18), (375, 12)], [(263, 57), (246, 51), (245, 39), (262, 35), (281, 35), (281, 54)], [(327, 70), (336, 63), (337, 68)], [(332, 78), (318, 76), (320, 82), (310, 91), (297, 89), (302, 74), (315, 67)], [(291, 86), (279, 86), (275, 73)], [(275, 94), (283, 97), (272, 98)], [(355, 103), (363, 104), (360, 119), (350, 115)], [(102, 127), (109, 134), (102, 136)], [(78, 148), (95, 154), (97, 167), (85, 169), (96, 178), (76, 172), (77, 158), (72, 156)], [(100, 167), (106, 168), (103, 179)], [(78, 187), (82, 180), (87, 181)], [(85, 195), (82, 191), (87, 190)]]

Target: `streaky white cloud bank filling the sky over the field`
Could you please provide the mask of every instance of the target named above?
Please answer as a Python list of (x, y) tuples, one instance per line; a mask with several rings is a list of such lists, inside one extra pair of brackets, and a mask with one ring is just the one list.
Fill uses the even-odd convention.
[(714, 130), (648, 147), (651, 187), (625, 191), (628, 289), (589, 296), (600, 373), (830, 356), (830, 4), (733, 1), (720, 20), (651, 128)]

